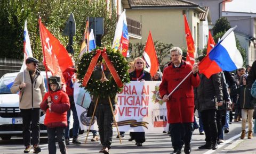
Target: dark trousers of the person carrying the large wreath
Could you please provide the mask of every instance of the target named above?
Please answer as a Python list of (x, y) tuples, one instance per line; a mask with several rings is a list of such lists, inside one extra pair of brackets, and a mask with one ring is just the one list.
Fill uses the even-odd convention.
[[(113, 105), (115, 111), (115, 105)], [(100, 141), (102, 146), (108, 147), (112, 143), (114, 117), (109, 104), (98, 104), (96, 109), (97, 124), (99, 127)]]

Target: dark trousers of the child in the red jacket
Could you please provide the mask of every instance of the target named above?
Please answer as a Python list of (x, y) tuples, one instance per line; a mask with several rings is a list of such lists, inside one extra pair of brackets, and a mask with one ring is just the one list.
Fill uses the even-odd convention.
[(56, 154), (55, 136), (57, 136), (57, 142), (59, 144), (60, 152), (61, 154), (66, 154), (64, 129), (65, 127), (55, 127), (55, 128), (47, 127), (49, 153)]

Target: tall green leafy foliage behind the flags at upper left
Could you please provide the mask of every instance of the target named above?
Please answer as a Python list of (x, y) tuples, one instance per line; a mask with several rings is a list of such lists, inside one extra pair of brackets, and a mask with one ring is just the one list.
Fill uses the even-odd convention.
[[(111, 5), (111, 4), (110, 4)], [(76, 36), (73, 38), (75, 55), (78, 55), (85, 30), (86, 18), (103, 17), (104, 30), (102, 46), (111, 45), (117, 21), (116, 11), (107, 10), (104, 0), (1, 0), (0, 1), (0, 57), (20, 58), (23, 53), (23, 29), (25, 20), (33, 50), (33, 56), (42, 61), (42, 46), (39, 37), (38, 17), (63, 46), (68, 45), (68, 37), (61, 34), (69, 14), (72, 12), (76, 21)]]

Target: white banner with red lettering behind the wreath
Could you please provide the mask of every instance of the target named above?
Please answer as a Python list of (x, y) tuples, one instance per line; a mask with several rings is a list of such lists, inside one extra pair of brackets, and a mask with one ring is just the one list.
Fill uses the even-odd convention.
[[(166, 102), (159, 99), (161, 81), (131, 81), (118, 93), (115, 117), (119, 131), (129, 132), (163, 132), (167, 126)], [(91, 97), (84, 88), (75, 83), (74, 99), (81, 129), (89, 126), (91, 118), (86, 117)], [(98, 130), (93, 122), (91, 130)], [(96, 124), (96, 125), (95, 125)], [(116, 127), (114, 127), (116, 131)]]

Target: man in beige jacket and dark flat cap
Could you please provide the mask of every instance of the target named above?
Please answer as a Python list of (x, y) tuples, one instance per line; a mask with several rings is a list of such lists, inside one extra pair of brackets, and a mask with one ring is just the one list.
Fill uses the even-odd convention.
[(40, 138), (40, 103), (46, 92), (44, 86), (44, 76), (37, 69), (39, 61), (36, 58), (28, 57), (26, 59), (27, 69), (20, 72), (11, 88), (12, 93), (20, 92), (20, 111), (23, 121), (23, 141), (25, 145), (24, 153), (31, 150), (30, 124), (32, 131), (32, 143), (34, 153), (41, 152), (39, 148)]

